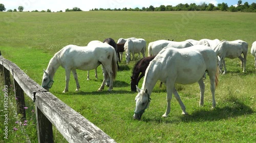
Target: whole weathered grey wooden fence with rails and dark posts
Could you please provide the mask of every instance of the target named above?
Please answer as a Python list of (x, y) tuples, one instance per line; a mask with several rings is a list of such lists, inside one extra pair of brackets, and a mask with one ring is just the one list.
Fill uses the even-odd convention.
[(0, 71), (5, 85), (11, 76), (17, 98), (17, 113), (26, 119), (24, 93), (35, 103), (38, 142), (54, 142), (52, 124), (69, 142), (115, 142), (109, 135), (81, 116), (74, 109), (47, 92), (14, 63), (6, 60), (0, 51)]

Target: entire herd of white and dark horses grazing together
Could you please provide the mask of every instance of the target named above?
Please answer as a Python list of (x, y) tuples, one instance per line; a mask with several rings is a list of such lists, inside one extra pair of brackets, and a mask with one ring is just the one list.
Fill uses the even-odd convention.
[[(76, 69), (88, 71), (97, 70), (101, 65), (104, 79), (98, 91), (104, 89), (105, 84), (109, 91), (113, 90), (113, 82), (119, 69), (118, 62), (122, 61), (122, 53), (125, 52), (126, 63), (134, 59), (135, 53), (142, 53), (143, 58), (139, 60), (131, 76), (131, 91), (138, 91), (135, 98), (136, 107), (134, 119), (140, 120), (145, 109), (150, 105), (150, 95), (158, 80), (166, 85), (167, 108), (163, 117), (170, 112), (170, 101), (172, 94), (178, 100), (182, 113), (187, 114), (185, 106), (175, 89), (175, 83), (191, 84), (198, 82), (200, 87), (200, 105), (204, 104), (205, 85), (203, 79), (207, 75), (210, 79), (210, 91), (212, 94), (212, 108), (216, 106), (215, 88), (218, 85), (218, 75), (226, 73), (225, 58), (239, 58), (242, 62), (243, 72), (246, 71), (246, 58), (248, 44), (242, 40), (210, 40), (199, 41), (188, 39), (182, 42), (170, 40), (157, 40), (148, 43), (148, 56), (146, 53), (146, 41), (142, 38), (120, 38), (117, 43), (112, 38), (103, 42), (94, 40), (87, 46), (67, 45), (59, 50), (50, 60), (48, 67), (42, 76), (42, 87), (49, 91), (53, 84), (56, 70), (61, 66), (66, 72), (66, 87), (63, 93), (69, 90), (71, 71), (76, 81), (76, 91), (80, 85)], [(256, 67), (256, 41), (252, 44), (251, 54), (255, 57)], [(243, 55), (243, 56), (242, 56)], [(132, 60), (133, 60), (132, 59)], [(224, 67), (224, 72), (222, 72)], [(141, 89), (138, 88), (140, 79), (144, 76)], [(97, 78), (97, 71), (95, 72)]]

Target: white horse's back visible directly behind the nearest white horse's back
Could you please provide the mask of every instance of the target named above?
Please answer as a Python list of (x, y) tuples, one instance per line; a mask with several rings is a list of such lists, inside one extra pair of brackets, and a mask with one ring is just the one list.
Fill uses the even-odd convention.
[(174, 48), (187, 48), (193, 46), (190, 42), (182, 41), (168, 41), (168, 40), (157, 40), (148, 44), (148, 56), (157, 55), (164, 47), (170, 46)]

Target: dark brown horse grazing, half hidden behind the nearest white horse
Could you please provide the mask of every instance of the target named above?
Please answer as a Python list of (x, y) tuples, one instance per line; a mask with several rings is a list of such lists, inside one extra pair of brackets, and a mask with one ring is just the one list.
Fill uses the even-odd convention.
[[(147, 66), (155, 57), (156, 55), (147, 56), (134, 65), (133, 75), (131, 76), (131, 91), (136, 92), (136, 85), (138, 86), (140, 79), (145, 75)], [(161, 86), (162, 82), (160, 83), (160, 87)]]

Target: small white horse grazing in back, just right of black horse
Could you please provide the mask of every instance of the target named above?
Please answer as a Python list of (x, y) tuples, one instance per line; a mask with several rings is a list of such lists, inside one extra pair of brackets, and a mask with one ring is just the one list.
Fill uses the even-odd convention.
[(134, 40), (127, 40), (124, 44), (124, 51), (125, 51), (125, 58), (126, 63), (129, 63), (131, 61), (131, 53), (133, 55), (135, 53), (142, 53), (143, 58), (145, 58), (145, 52), (146, 52), (146, 41), (142, 38), (134, 39)]

